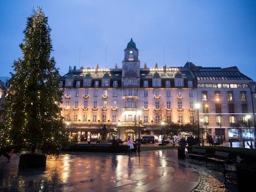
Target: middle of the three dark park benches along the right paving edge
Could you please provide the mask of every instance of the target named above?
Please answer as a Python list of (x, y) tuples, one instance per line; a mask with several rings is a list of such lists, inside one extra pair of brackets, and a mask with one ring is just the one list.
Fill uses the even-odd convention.
[(207, 166), (208, 162), (213, 162), (219, 171), (220, 165), (224, 168), (225, 164), (233, 163), (235, 159), (236, 156), (231, 152), (215, 151), (213, 155), (207, 154), (205, 164)]

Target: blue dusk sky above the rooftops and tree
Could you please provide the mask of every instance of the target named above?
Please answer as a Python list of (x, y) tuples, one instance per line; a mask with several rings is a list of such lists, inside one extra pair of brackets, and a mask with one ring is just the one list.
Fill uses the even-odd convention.
[(130, 38), (141, 68), (233, 67), (256, 80), (254, 0), (1, 0), (0, 77), (22, 57), (27, 17), (40, 6), (51, 28), (61, 75), (69, 66), (122, 67)]

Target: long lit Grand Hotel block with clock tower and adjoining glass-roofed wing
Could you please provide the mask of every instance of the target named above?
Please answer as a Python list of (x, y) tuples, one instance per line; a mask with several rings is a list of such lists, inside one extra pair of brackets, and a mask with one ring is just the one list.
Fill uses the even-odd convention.
[[(224, 141), (254, 133), (255, 82), (237, 67), (187, 62), (184, 67), (141, 68), (132, 39), (120, 69), (70, 68), (59, 87), (64, 91), (60, 107), (70, 140), (93, 141), (105, 133), (122, 140), (127, 135), (161, 138), (163, 126), (197, 125), (198, 119), (204, 139), (220, 136), (221, 131)], [(198, 116), (196, 103), (201, 104)]]

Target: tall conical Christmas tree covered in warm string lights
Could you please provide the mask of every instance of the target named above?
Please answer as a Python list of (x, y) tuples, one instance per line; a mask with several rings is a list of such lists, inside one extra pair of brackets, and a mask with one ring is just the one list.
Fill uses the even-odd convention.
[(64, 123), (59, 103), (59, 72), (51, 57), (48, 17), (43, 11), (33, 10), (23, 31), (20, 44), (22, 58), (12, 66), (10, 87), (4, 108), (1, 148), (16, 152), (59, 154), (65, 141)]

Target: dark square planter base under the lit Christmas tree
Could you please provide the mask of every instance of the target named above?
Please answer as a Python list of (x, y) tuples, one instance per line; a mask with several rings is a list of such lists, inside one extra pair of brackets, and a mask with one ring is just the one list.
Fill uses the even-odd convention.
[(44, 154), (20, 155), (19, 168), (30, 167), (46, 167), (46, 156)]

